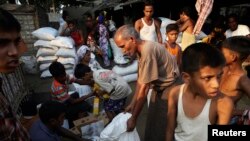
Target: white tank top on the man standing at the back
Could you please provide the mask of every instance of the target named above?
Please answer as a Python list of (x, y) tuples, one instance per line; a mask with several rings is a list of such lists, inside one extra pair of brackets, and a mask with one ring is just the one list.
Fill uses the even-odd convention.
[(140, 29), (140, 38), (142, 40), (149, 40), (149, 41), (157, 42), (158, 40), (157, 40), (156, 31), (155, 31), (154, 19), (150, 26), (146, 24), (143, 18), (141, 18), (141, 20), (143, 23), (143, 27)]

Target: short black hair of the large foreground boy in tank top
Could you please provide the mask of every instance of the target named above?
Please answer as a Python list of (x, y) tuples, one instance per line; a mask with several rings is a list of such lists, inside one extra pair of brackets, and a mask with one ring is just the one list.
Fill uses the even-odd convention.
[(216, 68), (226, 63), (222, 52), (207, 43), (194, 43), (188, 46), (182, 54), (183, 72), (192, 74), (202, 67)]

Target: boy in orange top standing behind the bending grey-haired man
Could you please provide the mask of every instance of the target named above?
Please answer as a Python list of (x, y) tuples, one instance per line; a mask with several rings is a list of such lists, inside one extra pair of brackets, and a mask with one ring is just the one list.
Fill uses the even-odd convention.
[(175, 56), (179, 69), (181, 68), (181, 47), (176, 43), (179, 34), (179, 27), (177, 24), (169, 24), (166, 27), (167, 41), (165, 47), (168, 52)]

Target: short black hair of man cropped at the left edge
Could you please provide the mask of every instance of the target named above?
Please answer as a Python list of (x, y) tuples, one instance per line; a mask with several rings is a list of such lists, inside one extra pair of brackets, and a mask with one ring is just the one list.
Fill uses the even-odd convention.
[(8, 11), (0, 8), (0, 32), (20, 32), (21, 25)]

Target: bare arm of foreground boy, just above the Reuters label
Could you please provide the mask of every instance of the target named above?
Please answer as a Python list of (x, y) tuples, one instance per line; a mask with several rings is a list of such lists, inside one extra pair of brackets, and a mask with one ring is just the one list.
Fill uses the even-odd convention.
[(228, 96), (223, 96), (217, 100), (217, 124), (226, 125), (230, 122), (234, 109), (233, 100)]

